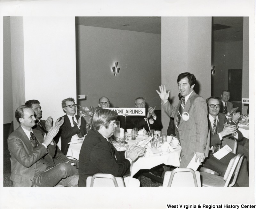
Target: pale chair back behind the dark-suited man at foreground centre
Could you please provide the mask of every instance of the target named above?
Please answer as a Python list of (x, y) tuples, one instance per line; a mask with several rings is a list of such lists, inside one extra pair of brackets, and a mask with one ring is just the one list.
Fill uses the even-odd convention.
[(94, 174), (87, 177), (86, 187), (124, 187), (124, 180), (112, 174)]

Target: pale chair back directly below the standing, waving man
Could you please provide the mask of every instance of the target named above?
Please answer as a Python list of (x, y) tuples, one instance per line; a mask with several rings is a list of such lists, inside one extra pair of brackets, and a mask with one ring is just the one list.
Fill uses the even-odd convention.
[(201, 187), (200, 173), (191, 168), (176, 168), (164, 174), (163, 187)]

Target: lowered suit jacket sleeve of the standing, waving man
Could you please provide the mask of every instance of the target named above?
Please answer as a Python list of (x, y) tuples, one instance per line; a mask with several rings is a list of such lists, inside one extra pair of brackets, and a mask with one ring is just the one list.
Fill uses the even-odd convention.
[(196, 125), (196, 152), (205, 152), (208, 137), (207, 105), (203, 97), (194, 99), (193, 114)]

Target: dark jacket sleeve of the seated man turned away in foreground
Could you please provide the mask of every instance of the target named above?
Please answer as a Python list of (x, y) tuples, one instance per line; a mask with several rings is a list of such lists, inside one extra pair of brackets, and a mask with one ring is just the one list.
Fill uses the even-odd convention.
[(103, 142), (94, 145), (90, 160), (102, 173), (119, 177), (125, 173), (129, 173), (131, 166), (130, 161), (127, 159), (124, 159), (122, 162), (116, 162), (108, 147)]

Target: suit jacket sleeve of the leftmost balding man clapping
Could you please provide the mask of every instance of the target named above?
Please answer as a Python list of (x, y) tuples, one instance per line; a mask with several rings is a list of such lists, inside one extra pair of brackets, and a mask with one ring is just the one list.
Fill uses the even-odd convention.
[(8, 137), (8, 149), (11, 155), (25, 167), (32, 166), (48, 153), (42, 144), (39, 144), (33, 151), (28, 153), (21, 139), (12, 135)]

